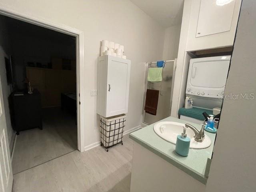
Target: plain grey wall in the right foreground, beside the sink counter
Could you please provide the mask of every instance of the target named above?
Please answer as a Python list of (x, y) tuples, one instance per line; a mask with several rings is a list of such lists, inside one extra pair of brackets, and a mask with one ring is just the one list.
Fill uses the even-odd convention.
[(224, 100), (207, 192), (256, 191), (256, 1), (242, 2), (225, 94), (254, 93), (253, 100)]

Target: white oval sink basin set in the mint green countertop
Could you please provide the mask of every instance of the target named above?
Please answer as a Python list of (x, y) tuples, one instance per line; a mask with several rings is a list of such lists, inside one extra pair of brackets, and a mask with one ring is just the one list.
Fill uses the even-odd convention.
[[(183, 132), (183, 127), (185, 124), (183, 123), (177, 123), (177, 122), (170, 122), (170, 121), (164, 121), (164, 122), (158, 122), (154, 125), (154, 132), (160, 136), (162, 139), (172, 143), (176, 144), (177, 136), (180, 135)], [(194, 139), (194, 131), (192, 131), (190, 128), (186, 128), (186, 134), (190, 138), (190, 148), (192, 149), (204, 149), (208, 148), (211, 145), (210, 138), (205, 135), (203, 142), (196, 142)]]

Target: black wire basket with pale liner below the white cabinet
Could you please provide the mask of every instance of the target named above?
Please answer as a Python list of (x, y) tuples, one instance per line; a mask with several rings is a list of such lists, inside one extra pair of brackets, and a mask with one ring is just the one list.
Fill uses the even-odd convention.
[(126, 114), (120, 114), (108, 118), (100, 116), (100, 140), (108, 152), (108, 149), (123, 144), (124, 122), (126, 121)]

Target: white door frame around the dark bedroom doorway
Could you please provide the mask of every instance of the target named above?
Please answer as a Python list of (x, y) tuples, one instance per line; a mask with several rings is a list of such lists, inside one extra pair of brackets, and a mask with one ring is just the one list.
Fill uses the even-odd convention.
[(75, 28), (54, 23), (49, 20), (44, 20), (43, 18), (36, 17), (34, 15), (26, 14), (24, 12), (19, 12), (12, 8), (6, 8), (0, 5), (0, 14), (8, 16), (17, 20), (21, 20), (30, 24), (48, 28), (57, 32), (68, 34), (76, 37), (76, 101), (77, 101), (77, 139), (78, 139), (78, 150), (80, 152), (84, 151), (84, 118), (80, 118), (84, 114), (81, 107), (81, 86), (80, 86), (80, 71), (83, 69), (84, 65), (84, 32), (77, 30)]

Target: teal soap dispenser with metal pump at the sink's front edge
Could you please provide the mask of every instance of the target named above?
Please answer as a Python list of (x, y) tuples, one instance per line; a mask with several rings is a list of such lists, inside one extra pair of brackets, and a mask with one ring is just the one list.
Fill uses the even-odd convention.
[(190, 138), (187, 137), (186, 128), (183, 127), (183, 133), (177, 136), (175, 151), (181, 156), (188, 156)]

